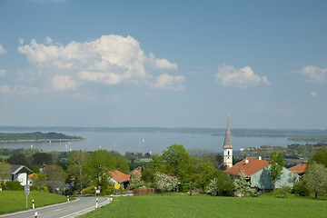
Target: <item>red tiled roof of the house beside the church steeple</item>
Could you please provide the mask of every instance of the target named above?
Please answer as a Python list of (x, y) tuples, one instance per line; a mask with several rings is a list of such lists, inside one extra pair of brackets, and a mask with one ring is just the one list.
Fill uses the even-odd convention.
[[(245, 160), (248, 160), (248, 163), (245, 163)], [(258, 159), (250, 159), (246, 157), (242, 162), (234, 164), (231, 168), (225, 170), (226, 173), (239, 175), (241, 172), (245, 173), (246, 176), (250, 176), (255, 172), (260, 171), (271, 162), (263, 161)]]

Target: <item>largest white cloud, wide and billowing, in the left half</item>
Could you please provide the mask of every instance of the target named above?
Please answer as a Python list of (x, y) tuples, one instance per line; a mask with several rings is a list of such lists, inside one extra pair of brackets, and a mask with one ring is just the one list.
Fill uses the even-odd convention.
[[(72, 41), (68, 45), (53, 44), (53, 40), (46, 37), (45, 44), (32, 39), (29, 45), (19, 46), (18, 52), (26, 55), (31, 68), (35, 69), (33, 72), (37, 72), (34, 76), (48, 77), (58, 91), (74, 90), (85, 82), (121, 84), (129, 81), (154, 87), (153, 84), (158, 83), (154, 81), (154, 72), (178, 69), (177, 64), (166, 59), (144, 54), (139, 42), (129, 35), (103, 35), (94, 41)], [(173, 81), (181, 81), (181, 76), (171, 77)], [(64, 79), (65, 86), (59, 84), (59, 78)], [(177, 86), (173, 87), (174, 84)], [(172, 82), (161, 88), (182, 90), (180, 85), (181, 82)]]

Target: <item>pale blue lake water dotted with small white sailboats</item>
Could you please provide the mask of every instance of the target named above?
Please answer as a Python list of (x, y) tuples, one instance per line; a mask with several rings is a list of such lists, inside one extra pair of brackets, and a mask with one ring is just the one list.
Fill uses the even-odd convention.
[[(81, 136), (85, 140), (67, 142), (35, 142), (19, 144), (0, 144), (0, 148), (38, 148), (49, 151), (74, 151), (98, 149), (114, 150), (121, 154), (137, 152), (160, 154), (172, 144), (183, 144), (186, 149), (207, 149), (214, 153), (223, 152), (224, 135), (213, 135), (212, 131), (168, 131), (126, 128), (74, 128), (74, 127), (1, 127), (1, 133), (27, 133), (27, 132), (55, 132), (74, 136)], [(223, 130), (221, 130), (223, 131)], [(259, 147), (261, 145), (287, 146), (288, 144), (302, 144), (302, 142), (289, 141), (287, 137), (238, 137), (233, 136), (234, 151), (242, 147)]]

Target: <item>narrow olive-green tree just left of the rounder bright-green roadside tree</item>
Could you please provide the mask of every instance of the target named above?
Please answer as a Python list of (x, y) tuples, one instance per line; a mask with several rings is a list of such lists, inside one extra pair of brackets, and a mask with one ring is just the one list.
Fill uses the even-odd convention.
[(86, 160), (87, 153), (84, 151), (74, 152), (68, 160), (68, 172), (74, 176), (74, 185), (79, 187), (80, 192), (89, 182), (89, 176), (85, 171)]

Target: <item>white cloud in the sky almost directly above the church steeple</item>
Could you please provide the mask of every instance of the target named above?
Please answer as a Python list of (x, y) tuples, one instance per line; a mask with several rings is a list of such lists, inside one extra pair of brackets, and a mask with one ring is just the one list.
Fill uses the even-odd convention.
[(225, 86), (235, 85), (240, 88), (247, 88), (259, 84), (270, 84), (266, 76), (254, 74), (250, 66), (237, 70), (231, 65), (223, 64), (214, 76), (217, 83)]

